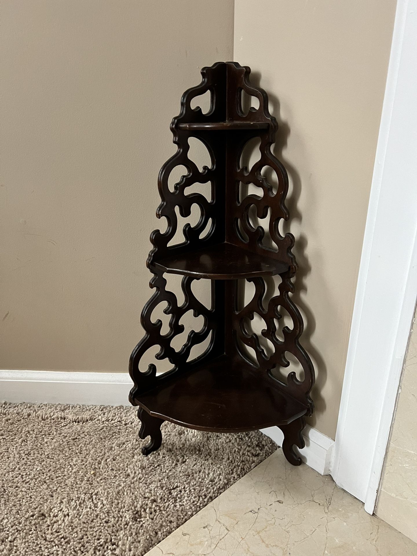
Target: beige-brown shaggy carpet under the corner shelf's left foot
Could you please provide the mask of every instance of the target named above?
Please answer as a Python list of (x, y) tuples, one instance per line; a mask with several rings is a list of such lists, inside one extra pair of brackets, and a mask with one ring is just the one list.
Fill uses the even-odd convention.
[(276, 450), (258, 431), (162, 425), (134, 408), (0, 404), (0, 554), (141, 556)]

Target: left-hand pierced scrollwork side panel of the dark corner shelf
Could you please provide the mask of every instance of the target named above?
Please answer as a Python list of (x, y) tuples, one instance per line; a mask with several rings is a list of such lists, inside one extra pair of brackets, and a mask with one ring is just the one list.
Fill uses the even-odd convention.
[[(182, 96), (180, 115), (177, 116), (177, 118), (173, 118), (171, 123), (173, 142), (177, 145), (177, 152), (162, 166), (158, 176), (158, 190), (161, 203), (156, 211), (156, 216), (158, 218), (165, 217), (167, 229), (164, 232), (154, 230), (150, 238), (153, 248), (148, 256), (147, 266), (153, 274), (150, 287), (156, 291), (143, 308), (141, 315), (141, 325), (145, 330), (145, 336), (137, 344), (130, 358), (129, 372), (134, 383), (130, 393), (132, 404), (135, 404), (135, 394), (137, 391), (143, 393), (153, 388), (158, 381), (166, 380), (168, 376), (173, 373), (186, 371), (190, 368), (192, 363), (200, 360), (205, 354), (211, 351), (215, 341), (217, 319), (214, 300), (214, 284), (212, 284), (212, 306), (208, 309), (195, 297), (191, 290), (191, 283), (195, 279), (190, 276), (184, 276), (181, 288), (185, 296), (185, 301), (181, 306), (178, 306), (176, 295), (166, 288), (166, 280), (163, 277), (163, 271), (155, 266), (155, 262), (164, 256), (175, 254), (175, 252), (178, 251), (191, 251), (196, 249), (197, 244), (212, 245), (219, 242), (221, 230), (224, 228), (223, 223), (220, 225), (217, 224), (219, 203), (216, 199), (215, 188), (215, 184), (219, 183), (220, 179), (224, 179), (222, 173), (224, 172), (224, 168), (222, 168), (222, 165), (218, 162), (216, 163), (222, 156), (222, 145), (211, 145), (206, 137), (198, 136), (198, 139), (207, 147), (211, 157), (211, 167), (203, 166), (200, 171), (196, 163), (188, 157), (188, 152), (190, 150), (188, 137), (190, 137), (190, 133), (181, 131), (178, 128), (178, 123), (182, 121), (198, 121), (198, 119), (203, 117), (217, 117), (219, 103), (216, 104), (215, 99), (216, 96), (220, 94), (219, 83), (215, 82), (216, 77), (211, 76), (209, 70), (210, 68), (207, 68), (207, 71), (203, 69), (202, 83), (197, 87), (189, 89)], [(211, 92), (211, 108), (209, 112), (203, 116), (201, 108), (192, 109), (190, 103), (194, 97), (200, 96), (207, 91)], [(168, 179), (172, 170), (177, 166), (184, 166), (187, 170), (187, 174), (181, 177), (180, 181), (173, 187), (173, 191), (171, 191), (168, 187)], [(187, 187), (192, 186), (194, 183), (207, 182), (211, 183), (210, 200), (201, 193), (187, 193)], [(176, 207), (178, 207), (180, 215), (187, 218), (191, 215), (193, 205), (197, 205), (201, 211), (199, 221), (193, 227), (190, 224), (186, 224), (183, 227), (183, 242), (174, 246), (168, 245), (177, 232), (178, 219)], [(205, 231), (209, 223), (211, 223), (209, 231), (201, 238), (202, 232)], [(167, 302), (167, 307), (163, 312), (171, 315), (169, 324), (170, 331), (165, 335), (161, 333), (162, 322), (160, 320), (152, 322), (151, 320), (152, 312), (161, 302)], [(188, 334), (187, 340), (180, 351), (176, 351), (173, 349), (171, 341), (173, 337), (183, 332), (184, 327), (180, 324), (180, 320), (190, 309), (193, 311), (193, 316), (203, 316), (204, 324), (202, 330), (199, 332), (192, 330), (190, 334)], [(188, 361), (192, 347), (203, 342), (211, 332), (211, 342), (205, 353), (200, 355), (196, 361)], [(155, 345), (160, 346), (160, 351), (158, 351), (156, 359), (168, 359), (173, 365), (171, 371), (168, 371), (162, 376), (157, 376), (157, 369), (154, 364), (150, 364), (145, 373), (141, 373), (138, 369), (139, 361), (142, 356), (150, 347)]]

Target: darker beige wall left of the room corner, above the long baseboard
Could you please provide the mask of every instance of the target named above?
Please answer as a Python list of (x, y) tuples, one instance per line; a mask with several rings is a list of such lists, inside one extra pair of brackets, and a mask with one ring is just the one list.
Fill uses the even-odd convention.
[(232, 0), (2, 2), (1, 365), (126, 371), (169, 131)]

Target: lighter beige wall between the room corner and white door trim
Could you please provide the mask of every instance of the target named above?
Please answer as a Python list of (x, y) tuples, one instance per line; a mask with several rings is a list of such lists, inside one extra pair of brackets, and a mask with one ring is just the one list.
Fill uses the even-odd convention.
[(332, 438), (394, 13), (395, 0), (235, 3), (234, 58), (260, 78), (284, 122), (275, 153), (292, 183), (296, 302), (317, 371), (312, 424)]

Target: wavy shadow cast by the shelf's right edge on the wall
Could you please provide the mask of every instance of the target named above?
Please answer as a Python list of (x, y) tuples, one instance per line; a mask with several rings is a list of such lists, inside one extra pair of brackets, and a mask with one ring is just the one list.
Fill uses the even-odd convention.
[[(255, 87), (261, 87), (261, 73), (251, 72), (250, 81)], [(272, 153), (282, 162), (289, 177), (289, 192), (286, 197), (285, 204), (289, 210), (290, 218), (284, 225), (284, 231), (289, 232), (291, 231), (291, 224), (294, 224), (294, 222), (301, 223), (302, 221), (302, 214), (298, 208), (298, 202), (302, 190), (301, 177), (295, 167), (292, 166), (291, 162), (287, 160), (283, 154), (287, 146), (288, 137), (290, 136), (290, 127), (287, 122), (281, 120), (280, 101), (270, 91), (266, 92), (269, 98), (269, 110), (278, 122), (278, 131), (276, 134), (276, 141), (274, 145), (272, 145)], [(294, 232), (292, 233), (294, 234)], [(307, 292), (306, 278), (311, 272), (311, 265), (306, 255), (307, 244), (308, 240), (305, 234), (301, 233), (298, 237), (295, 237), (295, 246), (293, 251), (296, 256), (299, 269), (297, 270), (294, 280), (295, 292), (292, 296), (292, 300), (301, 311), (304, 320), (304, 332), (301, 336), (301, 345), (310, 355), (316, 372), (316, 382), (311, 392), (311, 398), (314, 401), (315, 410), (314, 414), (308, 419), (309, 424), (314, 426), (317, 415), (324, 413), (326, 409), (326, 402), (321, 395), (321, 391), (327, 380), (327, 368), (319, 350), (317, 350), (317, 347), (312, 342), (312, 336), (316, 330), (316, 320), (309, 305), (306, 304), (302, 296), (303, 292)]]

